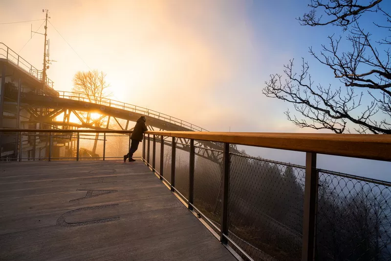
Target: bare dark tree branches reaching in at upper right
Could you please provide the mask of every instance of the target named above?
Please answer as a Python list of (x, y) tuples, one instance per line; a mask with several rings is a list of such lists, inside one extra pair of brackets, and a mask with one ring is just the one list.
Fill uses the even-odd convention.
[[(328, 37), (329, 46), (322, 45), (320, 54), (309, 48), (310, 54), (328, 67), (344, 87), (315, 84), (304, 59), (299, 73), (294, 72), (290, 60), (284, 66), (284, 77), (272, 74), (265, 82), (264, 95), (292, 103), (302, 116), (285, 112), (297, 126), (343, 133), (349, 132), (348, 124), (358, 133), (391, 134), (391, 15), (380, 5), (382, 0), (367, 1), (361, 5), (358, 0), (311, 0), (312, 10), (298, 18), (302, 25), (349, 28), (346, 40), (351, 47), (341, 50), (342, 37), (332, 35)], [(317, 15), (319, 9), (325, 11), (325, 17)], [(360, 26), (359, 18), (366, 12), (384, 18), (383, 24), (374, 24), (383, 31), (377, 33), (383, 38), (373, 40)]]

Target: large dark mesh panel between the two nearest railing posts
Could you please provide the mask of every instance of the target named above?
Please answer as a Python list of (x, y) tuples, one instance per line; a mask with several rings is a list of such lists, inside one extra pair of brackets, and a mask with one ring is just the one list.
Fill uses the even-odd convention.
[(304, 167), (230, 155), (229, 233), (255, 260), (301, 260)]

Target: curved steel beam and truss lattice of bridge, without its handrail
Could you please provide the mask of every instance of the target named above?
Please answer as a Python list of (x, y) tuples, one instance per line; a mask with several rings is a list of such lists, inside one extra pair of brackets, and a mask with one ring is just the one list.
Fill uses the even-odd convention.
[[(148, 114), (143, 115), (140, 113), (135, 113), (132, 111), (127, 111), (124, 109), (110, 107), (101, 104), (90, 103), (81, 100), (71, 100), (66, 98), (52, 97), (52, 96), (43, 96), (43, 95), (35, 95), (35, 94), (25, 94), (22, 98), (22, 102), (26, 104), (30, 104), (30, 107), (36, 107), (36, 104), (40, 104), (40, 106), (45, 107), (46, 109), (54, 109), (56, 112), (53, 113), (51, 111), (48, 115), (51, 117), (47, 117), (43, 122), (47, 121), (46, 124), (49, 125), (63, 125), (63, 126), (72, 126), (75, 128), (89, 128), (96, 130), (105, 130), (111, 129), (110, 127), (110, 119), (114, 118), (114, 121), (118, 124), (118, 126), (122, 130), (127, 130), (129, 127), (130, 121), (137, 121), (141, 116), (145, 116), (147, 118), (147, 127), (149, 130), (161, 130), (161, 131), (191, 131), (190, 129), (176, 125), (172, 122), (164, 121), (163, 119), (153, 118)], [(61, 121), (52, 121), (53, 118), (60, 115), (62, 112), (67, 113), (66, 120)], [(69, 122), (70, 114), (73, 113), (77, 119), (80, 120), (80, 123)], [(87, 113), (87, 117), (83, 116), (83, 114)], [(99, 113), (101, 117), (98, 119), (90, 119), (91, 113)], [(47, 116), (47, 115), (46, 115)], [(85, 119), (84, 119), (85, 118)], [(121, 125), (118, 119), (125, 119), (126, 126), (125, 128)], [(105, 127), (95, 126), (98, 121), (107, 122)], [(130, 128), (129, 130), (132, 130)], [(169, 137), (164, 137), (165, 144), (171, 144), (168, 142)], [(176, 139), (176, 146), (178, 149), (183, 151), (190, 152), (190, 141), (187, 139)], [(236, 147), (231, 148), (232, 151), (240, 153), (237, 151)], [(222, 162), (222, 144), (218, 142), (207, 142), (207, 141), (195, 141), (195, 155), (200, 156), (202, 158), (206, 158), (216, 163)]]

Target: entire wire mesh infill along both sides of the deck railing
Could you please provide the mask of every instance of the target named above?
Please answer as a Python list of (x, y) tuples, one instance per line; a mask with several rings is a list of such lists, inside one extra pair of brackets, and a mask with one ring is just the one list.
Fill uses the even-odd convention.
[[(77, 132), (0, 133), (1, 161), (121, 159), (129, 134)], [(155, 139), (155, 170), (171, 180), (172, 137)], [(148, 142), (150, 143), (149, 155)], [(223, 180), (229, 177), (228, 243), (244, 259), (298, 261), (302, 258), (305, 167), (195, 142), (194, 201), (200, 217), (220, 232)], [(175, 189), (189, 199), (190, 140), (175, 139)], [(153, 161), (153, 135), (134, 153)], [(227, 147), (225, 147), (227, 148)], [(230, 151), (228, 153), (228, 151)], [(160, 166), (160, 155), (163, 168)], [(312, 173), (312, 172), (311, 172)], [(315, 173), (315, 172), (313, 172)], [(229, 175), (228, 175), (229, 174)], [(307, 173), (308, 174), (308, 173)], [(314, 174), (311, 174), (311, 176)], [(317, 169), (315, 256), (318, 261), (391, 260), (391, 183)], [(225, 194), (226, 195), (226, 194)], [(307, 194), (308, 195), (308, 194)], [(315, 197), (313, 197), (315, 198)], [(315, 213), (315, 211), (313, 212)], [(224, 223), (226, 224), (226, 223)]]

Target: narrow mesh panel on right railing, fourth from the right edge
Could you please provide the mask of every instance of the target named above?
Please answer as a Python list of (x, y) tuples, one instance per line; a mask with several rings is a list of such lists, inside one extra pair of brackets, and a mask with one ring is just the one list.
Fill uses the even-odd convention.
[(175, 189), (189, 199), (189, 161), (190, 141), (181, 139), (176, 142), (175, 151)]

